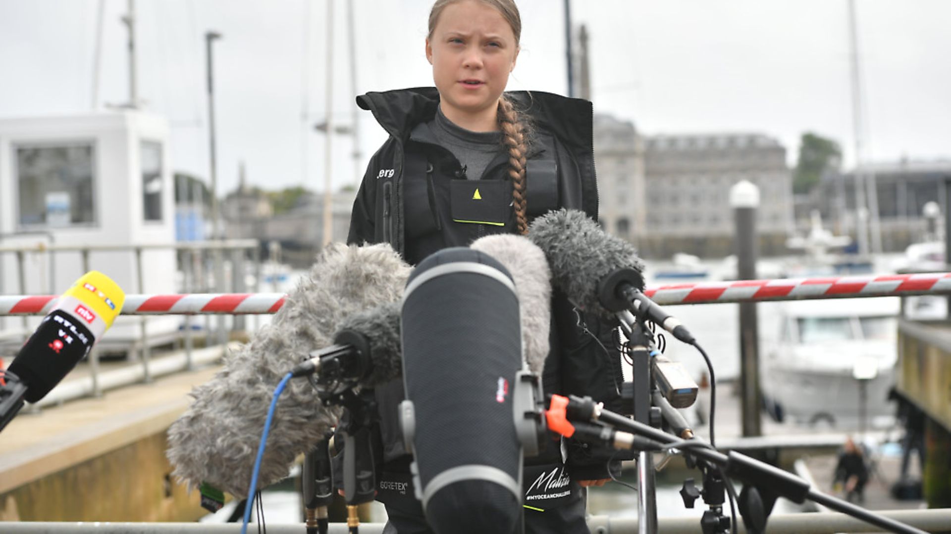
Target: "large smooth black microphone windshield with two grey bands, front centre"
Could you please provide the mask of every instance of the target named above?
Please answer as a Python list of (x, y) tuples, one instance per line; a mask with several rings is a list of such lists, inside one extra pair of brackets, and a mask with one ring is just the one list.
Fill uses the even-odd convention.
[(512, 276), (494, 257), (446, 248), (410, 276), (400, 412), (417, 498), (437, 533), (508, 534), (521, 525), (513, 391), (521, 339)]

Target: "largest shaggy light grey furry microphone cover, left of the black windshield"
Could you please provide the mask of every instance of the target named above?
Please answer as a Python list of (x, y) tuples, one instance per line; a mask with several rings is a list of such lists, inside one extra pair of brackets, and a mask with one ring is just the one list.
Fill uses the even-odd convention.
[[(397, 302), (410, 267), (388, 244), (328, 245), (271, 324), (224, 358), (224, 369), (195, 388), (191, 407), (168, 429), (166, 455), (189, 487), (207, 482), (244, 495), (274, 390), (308, 353), (332, 344), (341, 322), (360, 311)], [(281, 394), (262, 459), (260, 486), (286, 477), (294, 459), (336, 425), (303, 379)]]

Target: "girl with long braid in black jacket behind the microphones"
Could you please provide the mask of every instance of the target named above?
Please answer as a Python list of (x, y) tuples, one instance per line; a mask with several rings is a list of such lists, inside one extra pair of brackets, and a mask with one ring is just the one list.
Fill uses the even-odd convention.
[[(436, 87), (357, 99), (390, 137), (360, 185), (349, 242), (387, 241), (415, 265), (485, 235), (527, 234), (534, 217), (554, 208), (582, 209), (596, 219), (592, 105), (549, 93), (504, 92), (520, 31), (512, 0), (438, 0), (426, 38)], [(619, 409), (619, 358), (602, 348), (613, 346), (610, 330), (556, 294), (545, 391), (589, 394)], [(410, 458), (397, 423), (401, 381), (378, 388), (376, 395), (383, 447), (379, 479), (406, 483)], [(527, 531), (588, 532), (583, 487), (609, 479), (610, 456), (573, 442), (551, 445), (527, 462), (523, 474), (531, 496), (526, 502), (532, 503), (525, 511)], [(387, 489), (405, 487), (400, 484), (380, 487), (378, 500), (390, 518), (385, 532), (429, 532), (412, 491)]]

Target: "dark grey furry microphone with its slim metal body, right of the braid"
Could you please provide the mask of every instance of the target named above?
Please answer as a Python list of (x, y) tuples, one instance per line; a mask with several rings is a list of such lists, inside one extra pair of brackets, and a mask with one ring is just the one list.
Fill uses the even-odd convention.
[(644, 290), (644, 262), (631, 243), (615, 238), (583, 212), (560, 209), (532, 222), (529, 238), (545, 252), (554, 283), (576, 305), (611, 316), (632, 310), (689, 344), (695, 339)]

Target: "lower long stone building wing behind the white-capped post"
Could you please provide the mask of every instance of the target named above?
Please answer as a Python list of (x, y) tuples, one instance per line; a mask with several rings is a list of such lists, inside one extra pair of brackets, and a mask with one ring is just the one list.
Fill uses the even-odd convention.
[(658, 135), (647, 138), (645, 148), (642, 254), (732, 254), (728, 195), (730, 187), (743, 180), (760, 188), (760, 254), (786, 252), (792, 178), (786, 148), (777, 140), (753, 133)]

